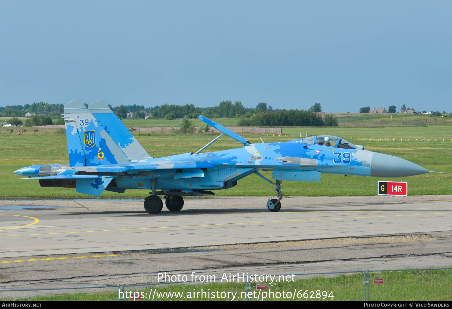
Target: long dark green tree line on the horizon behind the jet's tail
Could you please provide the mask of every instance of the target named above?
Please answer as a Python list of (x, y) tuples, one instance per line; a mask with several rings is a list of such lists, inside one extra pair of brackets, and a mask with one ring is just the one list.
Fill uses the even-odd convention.
[[(88, 106), (88, 104), (85, 104)], [(193, 104), (169, 105), (145, 107), (143, 105), (121, 105), (110, 109), (118, 115), (120, 119), (127, 118), (127, 113), (132, 112), (132, 119), (145, 119), (149, 115), (154, 119), (174, 120), (176, 117), (181, 119), (187, 117), (193, 119), (199, 115), (205, 115), (208, 118), (240, 118), (239, 125), (309, 125), (309, 126), (334, 126), (337, 120), (332, 115), (317, 115), (315, 112), (322, 111), (320, 103), (315, 103), (307, 111), (273, 109), (265, 102), (259, 102), (255, 108), (243, 106), (241, 101), (231, 100), (221, 101), (218, 106), (197, 107)], [(45, 102), (34, 102), (24, 106), (5, 106), (0, 107), (0, 116), (4, 117), (24, 117), (25, 113), (42, 113), (32, 115), (24, 121), (25, 126), (31, 125), (64, 125), (61, 114), (64, 112), (63, 104), (49, 104)], [(14, 122), (22, 124), (22, 120), (14, 118)]]

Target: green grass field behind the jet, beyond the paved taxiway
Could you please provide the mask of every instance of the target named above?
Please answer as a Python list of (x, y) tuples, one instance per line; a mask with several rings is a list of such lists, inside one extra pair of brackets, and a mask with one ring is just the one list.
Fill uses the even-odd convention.
[[(428, 126), (405, 128), (285, 128), (281, 136), (245, 136), (251, 143), (284, 142), (303, 134), (331, 134), (344, 137), (352, 143), (364, 145), (367, 150), (402, 157), (424, 166), (429, 173), (408, 178), (384, 179), (407, 181), (409, 195), (452, 194), (452, 126)], [(163, 135), (139, 136), (138, 141), (154, 157), (164, 157), (179, 153), (196, 152), (212, 140), (211, 135)], [(386, 139), (387, 138), (387, 139)], [(444, 139), (444, 141), (443, 141)], [(13, 173), (16, 169), (37, 165), (65, 163), (67, 146), (65, 136), (0, 136), (0, 197), (85, 197), (75, 189), (41, 188), (36, 180), (21, 180)], [(209, 151), (239, 148), (240, 143), (229, 137), (221, 137), (212, 144)], [(263, 173), (271, 178), (271, 172)], [(342, 175), (321, 175), (320, 183), (284, 181), (282, 192), (287, 196), (335, 196), (335, 195), (375, 195), (375, 177), (344, 177)], [(220, 196), (271, 196), (273, 185), (250, 175), (238, 182), (234, 188), (219, 190)], [(102, 197), (144, 197), (146, 190), (127, 190), (124, 194), (105, 191)]]

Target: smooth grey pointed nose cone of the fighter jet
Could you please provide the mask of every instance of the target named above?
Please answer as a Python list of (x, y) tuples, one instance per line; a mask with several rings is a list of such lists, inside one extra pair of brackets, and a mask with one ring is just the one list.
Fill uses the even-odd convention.
[(428, 173), (424, 167), (408, 160), (374, 152), (370, 175), (374, 177), (406, 177)]

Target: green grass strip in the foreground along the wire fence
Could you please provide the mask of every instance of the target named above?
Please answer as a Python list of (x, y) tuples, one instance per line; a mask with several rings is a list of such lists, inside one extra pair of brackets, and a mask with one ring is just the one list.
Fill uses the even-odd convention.
[[(188, 276), (189, 277), (189, 276)], [(262, 290), (259, 300), (263, 299), (263, 292), (269, 293), (274, 292), (275, 296), (278, 293), (282, 295), (282, 291), (294, 292), (297, 291), (294, 300), (352, 300), (352, 301), (363, 301), (363, 273), (358, 272), (351, 275), (339, 275), (335, 277), (323, 277), (316, 276), (306, 279), (297, 279), (295, 281), (278, 281), (278, 276), (275, 277), (273, 283), (259, 282), (259, 284), (267, 283), (268, 289)], [(372, 301), (444, 301), (451, 300), (451, 288), (452, 288), (452, 269), (441, 269), (441, 270), (405, 270), (405, 271), (393, 271), (393, 272), (370, 272), (369, 273), (369, 300)], [(373, 284), (373, 279), (383, 279), (382, 284)], [(179, 285), (157, 285), (148, 286), (144, 290), (140, 290), (140, 287), (126, 287), (125, 291), (142, 292), (146, 298), (148, 295), (157, 295), (155, 293), (164, 293), (163, 297), (154, 298), (154, 300), (218, 300), (217, 298), (206, 299), (200, 297), (201, 289), (202, 291), (210, 291), (216, 293), (220, 292), (236, 292), (236, 301), (244, 301), (246, 299), (245, 293), (245, 283), (244, 282), (214, 282), (209, 284), (179, 284)], [(296, 289), (296, 290), (295, 290)], [(255, 283), (252, 283), (252, 289), (250, 290), (254, 297), (252, 300), (257, 300), (259, 296), (259, 291), (256, 290)], [(301, 291), (301, 293), (299, 292)], [(305, 294), (305, 291), (307, 292)], [(313, 291), (313, 293), (311, 293)], [(317, 291), (319, 291), (317, 293)], [(168, 297), (168, 292), (180, 293), (180, 297)], [(322, 294), (322, 292), (326, 292)], [(199, 293), (199, 294), (198, 294)], [(160, 294), (162, 295), (162, 294)], [(198, 295), (198, 297), (188, 298), (188, 295)], [(230, 294), (231, 295), (231, 294)], [(264, 300), (292, 300), (283, 299), (280, 297), (268, 296)], [(273, 296), (272, 295), (272, 296)], [(317, 298), (316, 296), (319, 295)], [(127, 295), (128, 296), (128, 295)], [(299, 297), (297, 299), (297, 296)], [(333, 296), (332, 298), (330, 296)], [(184, 298), (185, 297), (185, 298)], [(312, 297), (312, 298), (311, 298)], [(253, 299), (254, 298), (254, 299)], [(118, 290), (115, 291), (102, 291), (93, 294), (61, 294), (53, 296), (37, 296), (29, 298), (16, 299), (18, 301), (55, 301), (55, 300), (104, 300), (104, 301), (115, 301), (118, 300)], [(133, 301), (130, 298), (125, 298), (126, 301)], [(221, 299), (220, 299), (221, 300)], [(231, 300), (231, 298), (230, 298)], [(137, 301), (148, 301), (147, 299), (137, 300)]]

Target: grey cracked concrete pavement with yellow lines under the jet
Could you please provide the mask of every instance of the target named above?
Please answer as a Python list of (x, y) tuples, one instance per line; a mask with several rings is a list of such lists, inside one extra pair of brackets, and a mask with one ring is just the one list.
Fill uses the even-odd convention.
[(284, 197), (279, 212), (266, 201), (186, 199), (182, 211), (156, 215), (142, 201), (0, 201), (0, 282), (17, 289), (149, 282), (156, 272), (452, 265), (452, 195)]

